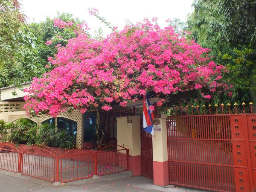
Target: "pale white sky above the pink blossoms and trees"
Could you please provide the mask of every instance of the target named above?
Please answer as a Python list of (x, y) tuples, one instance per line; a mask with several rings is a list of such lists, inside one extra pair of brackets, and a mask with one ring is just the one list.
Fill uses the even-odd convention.
[(105, 17), (113, 26), (119, 30), (125, 25), (125, 19), (133, 23), (142, 21), (143, 18), (157, 17), (160, 26), (165, 21), (178, 17), (186, 20), (188, 13), (192, 12), (191, 4), (194, 0), (20, 0), (22, 10), (28, 17), (27, 21), (44, 21), (47, 16), (57, 16), (57, 11), (71, 13), (80, 20), (85, 20), (93, 32), (102, 27), (106, 32), (108, 29), (100, 23), (96, 17), (88, 12), (88, 8), (99, 10), (99, 15)]

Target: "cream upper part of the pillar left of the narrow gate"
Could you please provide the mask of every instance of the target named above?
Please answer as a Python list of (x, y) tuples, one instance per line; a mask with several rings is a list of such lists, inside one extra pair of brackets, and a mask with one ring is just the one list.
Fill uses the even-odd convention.
[(129, 149), (131, 156), (140, 155), (140, 116), (131, 116), (132, 123), (127, 123), (127, 117), (117, 118), (117, 142)]

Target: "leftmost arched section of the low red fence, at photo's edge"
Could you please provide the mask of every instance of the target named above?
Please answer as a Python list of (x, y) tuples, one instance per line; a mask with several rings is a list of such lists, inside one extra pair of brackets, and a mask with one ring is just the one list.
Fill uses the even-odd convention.
[(18, 173), (20, 170), (20, 157), (21, 154), (17, 148), (12, 145), (0, 143), (0, 169)]

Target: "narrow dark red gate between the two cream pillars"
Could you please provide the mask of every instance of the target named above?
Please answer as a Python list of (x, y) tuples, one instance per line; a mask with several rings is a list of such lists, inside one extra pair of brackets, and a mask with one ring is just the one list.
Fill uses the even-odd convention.
[(141, 175), (150, 179), (154, 178), (153, 175), (153, 145), (152, 135), (143, 130), (141, 120)]

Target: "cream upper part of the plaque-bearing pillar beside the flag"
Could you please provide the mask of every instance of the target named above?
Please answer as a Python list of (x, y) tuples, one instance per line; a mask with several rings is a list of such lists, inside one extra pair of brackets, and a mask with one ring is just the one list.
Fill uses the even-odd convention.
[(168, 160), (166, 114), (161, 116), (157, 118), (160, 119), (161, 131), (154, 131), (155, 138), (152, 138), (153, 161), (165, 162)]

